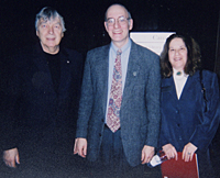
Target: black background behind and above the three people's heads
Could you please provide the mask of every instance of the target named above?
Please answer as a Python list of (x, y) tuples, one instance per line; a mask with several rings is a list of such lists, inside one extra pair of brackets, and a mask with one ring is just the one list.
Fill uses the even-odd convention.
[(103, 27), (106, 9), (124, 4), (134, 20), (133, 32), (185, 32), (200, 44), (204, 67), (215, 68), (219, 0), (1, 0), (0, 55), (37, 42), (35, 14), (54, 7), (66, 22), (65, 46), (86, 55), (88, 49), (110, 42)]

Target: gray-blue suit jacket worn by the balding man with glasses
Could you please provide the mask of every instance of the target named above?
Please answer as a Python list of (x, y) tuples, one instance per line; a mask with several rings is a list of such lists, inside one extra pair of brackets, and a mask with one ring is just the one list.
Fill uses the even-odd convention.
[[(88, 142), (87, 158), (98, 158), (107, 111), (110, 45), (89, 51), (85, 64), (76, 137)], [(141, 163), (144, 145), (157, 146), (160, 131), (160, 59), (132, 42), (120, 111), (127, 160)]]

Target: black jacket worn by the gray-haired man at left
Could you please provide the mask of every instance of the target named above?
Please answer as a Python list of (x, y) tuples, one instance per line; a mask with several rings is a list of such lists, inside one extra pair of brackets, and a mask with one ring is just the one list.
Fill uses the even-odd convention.
[(64, 133), (76, 124), (82, 57), (67, 48), (59, 52), (61, 84), (57, 92), (40, 44), (12, 57), (14, 65), (9, 66), (11, 73), (7, 73), (3, 101), (8, 105), (2, 116), (7, 133), (3, 135), (3, 149), (20, 148), (24, 143), (37, 144), (44, 137), (51, 142), (59, 131)]

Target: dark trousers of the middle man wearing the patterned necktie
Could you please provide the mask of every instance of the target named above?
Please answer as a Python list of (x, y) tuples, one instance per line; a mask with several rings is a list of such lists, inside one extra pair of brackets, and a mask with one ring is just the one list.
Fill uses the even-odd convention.
[(91, 177), (141, 178), (144, 176), (143, 165), (132, 167), (127, 162), (121, 141), (121, 130), (112, 133), (107, 126), (103, 131), (99, 158), (96, 163), (90, 164), (92, 170), (90, 174)]

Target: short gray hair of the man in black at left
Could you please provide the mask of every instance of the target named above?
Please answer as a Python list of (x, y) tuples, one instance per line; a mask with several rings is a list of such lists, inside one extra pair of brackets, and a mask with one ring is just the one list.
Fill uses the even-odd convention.
[(37, 14), (36, 14), (36, 20), (35, 20), (35, 29), (36, 31), (38, 30), (38, 21), (41, 19), (43, 20), (51, 20), (51, 19), (55, 19), (55, 18), (59, 18), (61, 22), (62, 22), (62, 30), (63, 32), (66, 31), (65, 29), (65, 23), (64, 23), (64, 19), (63, 16), (53, 8), (50, 7), (45, 7), (43, 8)]

